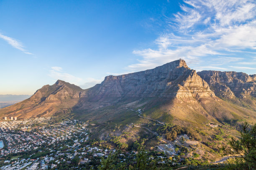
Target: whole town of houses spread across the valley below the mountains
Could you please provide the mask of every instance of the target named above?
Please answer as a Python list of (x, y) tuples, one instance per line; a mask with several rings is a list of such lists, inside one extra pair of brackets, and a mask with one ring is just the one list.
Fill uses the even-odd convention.
[[(118, 152), (118, 162), (133, 163), (138, 151), (121, 151), (118, 148), (95, 145), (90, 140), (87, 124), (78, 120), (65, 120), (50, 125), (51, 118), (33, 118), (0, 122), (1, 170), (71, 169), (97, 167), (102, 158)], [(177, 138), (189, 139), (186, 135)], [(101, 143), (101, 141), (99, 142)], [(104, 142), (103, 142), (104, 143)], [(117, 151), (118, 150), (118, 151)], [(179, 151), (174, 146), (156, 146), (156, 151), (148, 153), (148, 160), (169, 166), (181, 165)], [(171, 159), (172, 158), (172, 159)]]

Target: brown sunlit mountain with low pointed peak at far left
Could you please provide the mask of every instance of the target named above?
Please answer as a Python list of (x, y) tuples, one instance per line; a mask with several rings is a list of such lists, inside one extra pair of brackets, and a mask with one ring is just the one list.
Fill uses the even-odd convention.
[(83, 91), (76, 85), (58, 80), (54, 85), (44, 85), (30, 98), (1, 109), (0, 114), (19, 118), (51, 116), (72, 108), (83, 95)]

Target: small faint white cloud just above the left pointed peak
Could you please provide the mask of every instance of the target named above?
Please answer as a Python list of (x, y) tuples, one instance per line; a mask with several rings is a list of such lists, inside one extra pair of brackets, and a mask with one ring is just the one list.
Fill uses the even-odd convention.
[(75, 77), (74, 75), (65, 73), (62, 71), (62, 67), (51, 67), (49, 76), (54, 78), (55, 80), (64, 80), (76, 85), (79, 85), (82, 83), (82, 78)]

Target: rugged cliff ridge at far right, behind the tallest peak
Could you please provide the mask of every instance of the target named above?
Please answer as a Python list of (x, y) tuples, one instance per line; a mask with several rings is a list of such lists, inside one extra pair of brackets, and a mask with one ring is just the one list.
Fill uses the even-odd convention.
[(211, 90), (219, 97), (256, 96), (256, 75), (211, 70), (197, 72), (197, 74), (210, 85)]

